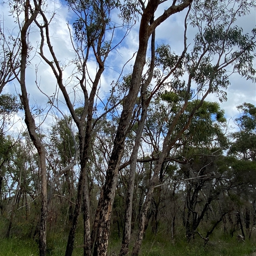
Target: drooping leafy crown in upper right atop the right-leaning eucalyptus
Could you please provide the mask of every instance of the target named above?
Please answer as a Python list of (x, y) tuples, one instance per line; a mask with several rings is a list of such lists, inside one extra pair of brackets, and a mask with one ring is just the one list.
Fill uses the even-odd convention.
[(255, 1), (240, 1), (236, 11), (230, 1), (195, 0), (192, 5), (190, 24), (199, 32), (193, 51), (186, 55), (186, 67), (198, 84), (198, 91), (209, 84), (211, 92), (221, 101), (226, 100), (223, 89), (229, 85), (227, 66), (232, 65), (234, 72), (255, 82), (255, 32), (249, 36), (234, 25), (237, 15), (245, 15), (255, 8)]

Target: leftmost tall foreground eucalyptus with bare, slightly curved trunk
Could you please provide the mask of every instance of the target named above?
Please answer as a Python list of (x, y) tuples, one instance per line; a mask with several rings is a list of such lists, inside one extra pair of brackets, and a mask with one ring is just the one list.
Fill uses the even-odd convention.
[[(32, 6), (33, 5), (33, 6)], [(40, 160), (40, 173), (41, 173), (41, 218), (40, 218), (40, 235), (39, 235), (39, 251), (40, 255), (46, 255), (46, 216), (47, 216), (47, 173), (46, 173), (46, 160), (45, 160), (45, 148), (37, 136), (36, 133), (36, 123), (34, 116), (30, 111), (28, 92), (26, 87), (26, 68), (28, 65), (29, 49), (31, 49), (28, 43), (28, 32), (30, 25), (36, 19), (36, 16), (39, 13), (39, 10), (42, 5), (42, 1), (34, 1), (31, 5), (30, 1), (27, 0), (23, 2), (10, 2), (10, 12), (12, 13), (14, 19), (20, 28), (19, 39), (20, 41), (20, 72), (17, 72), (16, 69), (12, 69), (12, 72), (15, 75), (18, 83), (20, 84), (21, 95), (20, 100), (23, 104), (25, 111), (25, 123), (28, 128), (28, 133), (31, 140), (33, 141), (36, 150), (39, 155)], [(24, 14), (24, 20), (20, 19), (20, 14)]]

